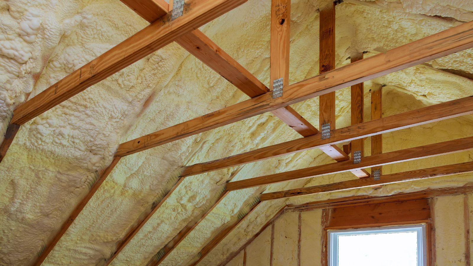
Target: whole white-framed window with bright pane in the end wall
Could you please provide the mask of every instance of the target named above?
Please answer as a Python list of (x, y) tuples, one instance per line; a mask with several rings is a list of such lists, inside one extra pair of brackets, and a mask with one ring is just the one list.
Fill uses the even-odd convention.
[(327, 233), (330, 266), (427, 266), (425, 224)]

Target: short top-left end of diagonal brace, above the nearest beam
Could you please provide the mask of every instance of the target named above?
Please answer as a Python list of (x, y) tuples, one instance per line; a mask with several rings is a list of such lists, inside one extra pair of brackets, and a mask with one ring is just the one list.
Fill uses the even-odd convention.
[[(135, 11), (141, 18), (146, 19), (149, 23), (163, 17), (169, 10), (169, 4), (164, 0), (121, 0)], [(171, 0), (172, 1), (172, 0)]]

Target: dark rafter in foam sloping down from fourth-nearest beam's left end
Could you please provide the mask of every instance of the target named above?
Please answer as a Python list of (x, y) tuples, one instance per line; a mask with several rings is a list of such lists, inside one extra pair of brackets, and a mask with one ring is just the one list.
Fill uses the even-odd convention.
[(164, 246), (164, 248), (160, 250), (159, 253), (161, 253), (162, 255), (160, 255), (159, 257), (154, 256), (153, 258), (151, 258), (147, 266), (157, 266), (161, 262), (163, 262), (167, 255), (169, 255), (177, 247), (177, 245), (179, 245), (179, 243), (181, 243), (182, 240), (184, 240), (185, 237), (189, 235), (189, 233), (193, 231), (194, 228), (197, 227), (197, 225), (199, 225), (199, 223), (202, 222), (205, 217), (207, 217), (207, 215), (209, 215), (209, 213), (223, 200), (223, 198), (228, 195), (228, 192), (229, 191), (227, 190), (223, 191), (217, 201), (207, 210), (207, 212), (202, 213), (200, 216), (193, 219), (181, 231), (179, 231), (179, 233), (175, 235), (175, 237), (171, 239), (171, 241), (169, 241), (166, 246)]

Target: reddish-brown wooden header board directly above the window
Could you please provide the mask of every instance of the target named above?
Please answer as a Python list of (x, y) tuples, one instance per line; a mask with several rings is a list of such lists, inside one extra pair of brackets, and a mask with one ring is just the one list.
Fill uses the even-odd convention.
[(429, 199), (416, 199), (333, 208), (325, 228), (371, 227), (386, 223), (429, 221), (430, 218)]

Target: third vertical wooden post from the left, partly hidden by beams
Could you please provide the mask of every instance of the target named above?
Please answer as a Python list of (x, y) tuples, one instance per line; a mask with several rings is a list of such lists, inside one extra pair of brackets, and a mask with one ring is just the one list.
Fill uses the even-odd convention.
[[(363, 59), (363, 53), (356, 53), (350, 57), (351, 63)], [(364, 86), (363, 82), (351, 86), (351, 124), (363, 123), (363, 106), (364, 106)], [(353, 153), (360, 151), (361, 157), (365, 156), (364, 139), (356, 139), (351, 141), (351, 158)]]

